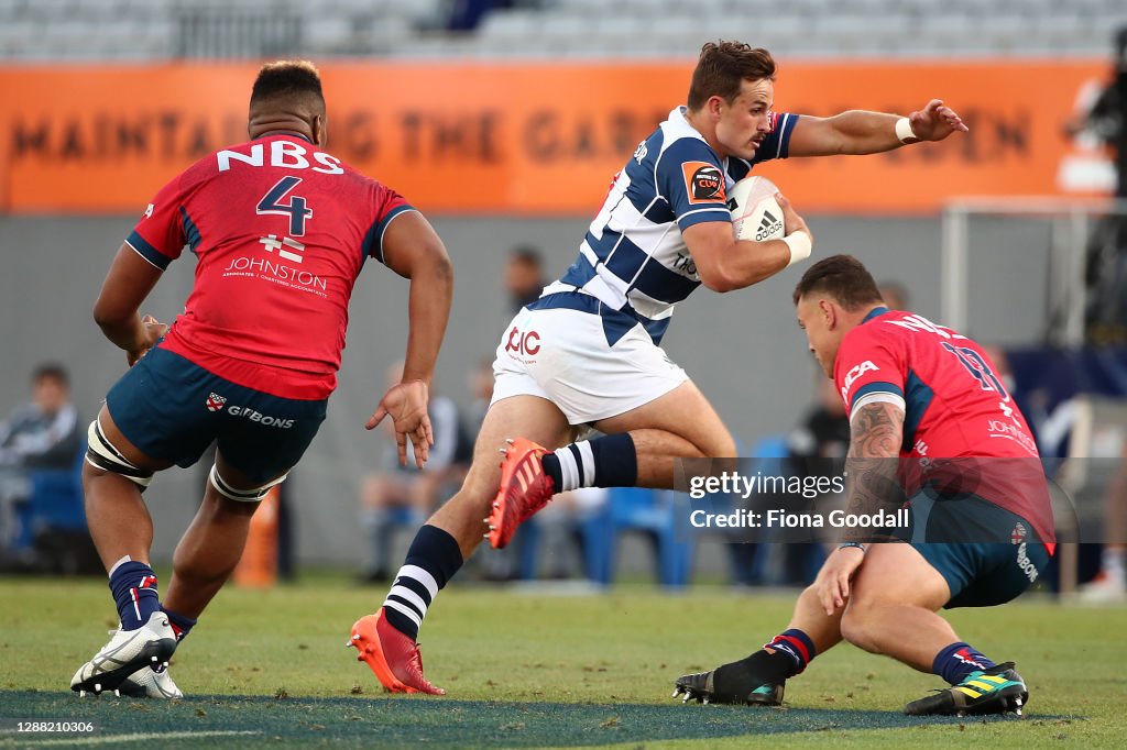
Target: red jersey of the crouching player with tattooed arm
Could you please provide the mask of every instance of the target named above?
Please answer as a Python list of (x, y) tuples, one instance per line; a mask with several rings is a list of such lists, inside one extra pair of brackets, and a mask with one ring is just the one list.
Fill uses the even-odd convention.
[(878, 307), (842, 339), (834, 382), (851, 418), (875, 401), (904, 409), (899, 455), (917, 459), (902, 463), (909, 484), (938, 476), (1022, 516), (1053, 542), (1037, 444), (980, 346), (921, 315)]

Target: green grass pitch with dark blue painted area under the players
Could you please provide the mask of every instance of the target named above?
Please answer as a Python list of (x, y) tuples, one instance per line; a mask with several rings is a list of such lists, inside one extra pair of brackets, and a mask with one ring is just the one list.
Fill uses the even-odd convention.
[[(552, 596), (455, 582), (421, 635), (427, 673), (450, 695), (387, 696), (344, 649), (383, 593), (344, 577), (225, 589), (172, 663), (188, 697), (166, 703), (70, 691), (116, 625), (101, 580), (0, 579), (0, 747), (1127, 744), (1127, 608), (1030, 598), (950, 613), (965, 639), (1017, 661), (1030, 687), (1024, 718), (983, 721), (903, 716), (939, 679), (846, 645), (788, 682), (783, 708), (682, 705), (669, 698), (678, 675), (749, 653), (786, 625), (793, 600), (707, 586)], [(17, 721), (97, 729), (29, 734)]]

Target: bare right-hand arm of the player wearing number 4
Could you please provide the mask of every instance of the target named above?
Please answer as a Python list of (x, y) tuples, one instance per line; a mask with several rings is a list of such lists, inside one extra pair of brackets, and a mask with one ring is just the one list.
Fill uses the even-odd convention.
[(383, 260), (388, 268), (411, 282), (407, 312), (410, 330), (403, 380), (383, 395), (365, 427), (372, 429), (390, 414), (399, 444), (400, 465), (407, 464), (407, 438), (410, 437), (415, 463), (421, 468), (434, 444), (427, 403), (438, 348), (450, 319), (454, 270), (434, 227), (423, 214), (414, 211), (396, 216), (388, 225), (383, 235)]

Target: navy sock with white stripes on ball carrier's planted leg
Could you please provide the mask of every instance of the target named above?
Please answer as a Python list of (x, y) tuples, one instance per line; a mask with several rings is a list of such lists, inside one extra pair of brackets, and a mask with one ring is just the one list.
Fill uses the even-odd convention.
[(461, 566), (462, 551), (454, 537), (437, 526), (423, 526), (383, 600), (388, 623), (417, 641), (426, 610)]

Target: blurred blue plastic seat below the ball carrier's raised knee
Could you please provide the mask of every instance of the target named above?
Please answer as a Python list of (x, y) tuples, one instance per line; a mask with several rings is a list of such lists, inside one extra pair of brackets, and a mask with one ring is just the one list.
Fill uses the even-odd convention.
[(612, 488), (600, 512), (582, 525), (587, 578), (610, 584), (614, 578), (618, 537), (623, 532), (645, 532), (653, 536), (657, 552), (657, 573), (662, 586), (683, 587), (692, 568), (691, 539), (677, 539), (676, 508), (684, 495), (645, 488)]

